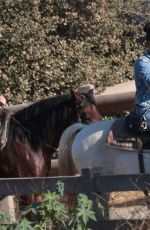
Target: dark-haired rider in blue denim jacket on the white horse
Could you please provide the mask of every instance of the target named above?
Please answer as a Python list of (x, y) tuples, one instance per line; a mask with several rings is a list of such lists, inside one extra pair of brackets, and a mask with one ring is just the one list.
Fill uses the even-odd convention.
[(135, 115), (145, 119), (145, 130), (150, 129), (150, 22), (143, 28), (145, 32), (145, 50), (135, 61)]

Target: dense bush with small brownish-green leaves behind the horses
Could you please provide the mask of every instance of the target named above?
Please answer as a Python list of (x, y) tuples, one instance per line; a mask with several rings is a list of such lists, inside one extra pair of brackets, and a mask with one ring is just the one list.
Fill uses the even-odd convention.
[(0, 92), (12, 104), (133, 79), (146, 0), (1, 0)]

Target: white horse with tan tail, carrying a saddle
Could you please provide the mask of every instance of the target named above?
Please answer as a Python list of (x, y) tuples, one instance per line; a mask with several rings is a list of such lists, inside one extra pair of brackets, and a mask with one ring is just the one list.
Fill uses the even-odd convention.
[[(121, 146), (119, 148), (108, 144), (111, 129), (118, 121), (119, 119), (101, 120), (88, 126), (73, 124), (68, 127), (59, 142), (59, 175), (81, 174), (81, 170), (85, 168), (95, 168), (100, 175), (150, 173), (150, 149), (142, 150), (142, 154), (139, 154), (136, 148), (122, 149)], [(144, 170), (140, 166), (140, 157)]]

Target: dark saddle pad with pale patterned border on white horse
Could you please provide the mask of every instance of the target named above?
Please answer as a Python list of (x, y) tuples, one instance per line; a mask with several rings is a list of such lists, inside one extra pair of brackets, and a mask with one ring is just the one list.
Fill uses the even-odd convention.
[(124, 128), (125, 119), (119, 118), (112, 124), (107, 140), (106, 146), (134, 151), (139, 149), (139, 139), (136, 134), (129, 133)]

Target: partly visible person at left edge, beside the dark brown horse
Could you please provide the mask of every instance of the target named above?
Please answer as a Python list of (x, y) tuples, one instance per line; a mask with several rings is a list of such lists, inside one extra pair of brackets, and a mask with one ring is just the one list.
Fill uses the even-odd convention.
[(4, 107), (6, 98), (0, 95), (0, 150), (2, 150), (7, 141), (7, 127), (10, 113)]

